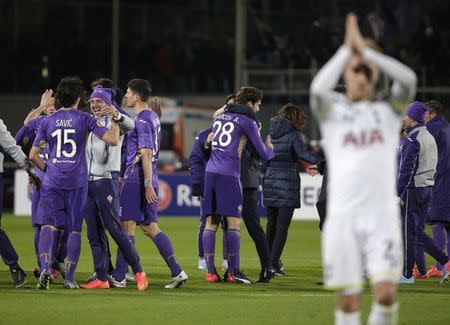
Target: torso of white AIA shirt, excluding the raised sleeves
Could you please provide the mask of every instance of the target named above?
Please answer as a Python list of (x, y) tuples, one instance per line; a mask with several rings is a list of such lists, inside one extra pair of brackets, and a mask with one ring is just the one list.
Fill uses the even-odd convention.
[[(392, 209), (400, 119), (385, 102), (336, 101), (321, 123), (332, 212)], [(378, 211), (378, 210), (377, 210)]]

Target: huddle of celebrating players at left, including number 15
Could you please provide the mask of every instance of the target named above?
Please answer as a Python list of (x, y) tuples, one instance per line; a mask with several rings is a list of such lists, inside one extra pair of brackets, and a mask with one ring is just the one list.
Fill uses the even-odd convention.
[[(40, 106), (27, 116), (16, 137), (21, 144), (33, 142), (29, 157), (40, 180), (32, 185), (37, 286), (48, 289), (59, 272), (65, 288), (78, 288), (74, 275), (86, 220), (94, 275), (82, 288), (125, 287), (128, 265), (138, 290), (147, 288), (134, 244), (137, 224), (171, 270), (172, 281), (166, 288), (178, 288), (188, 276), (178, 264), (169, 238), (158, 227), (156, 213), (159, 101), (154, 98), (154, 109), (149, 109), (149, 82), (131, 80), (126, 103), (136, 114), (133, 120), (117, 105), (109, 79), (99, 79), (92, 86), (89, 114), (77, 110), (84, 92), (82, 81), (63, 78), (54, 97), (51, 90), (42, 95)], [(126, 152), (122, 152), (125, 136)], [(119, 211), (124, 213), (119, 215)], [(110, 265), (105, 230), (118, 246), (115, 268)]]

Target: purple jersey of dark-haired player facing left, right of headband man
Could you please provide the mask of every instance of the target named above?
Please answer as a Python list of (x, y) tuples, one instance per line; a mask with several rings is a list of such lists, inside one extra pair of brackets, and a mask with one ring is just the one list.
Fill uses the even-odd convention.
[(135, 127), (128, 132), (127, 141), (127, 168), (125, 179), (127, 182), (142, 183), (144, 173), (142, 170), (141, 149), (149, 148), (152, 156), (152, 186), (158, 187), (158, 174), (156, 165), (159, 158), (161, 144), (161, 123), (158, 115), (152, 110), (143, 110), (134, 118)]

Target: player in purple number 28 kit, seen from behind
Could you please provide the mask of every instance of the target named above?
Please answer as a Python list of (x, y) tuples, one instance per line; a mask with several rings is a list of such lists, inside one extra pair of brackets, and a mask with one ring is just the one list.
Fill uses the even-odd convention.
[[(261, 105), (262, 92), (253, 87), (242, 87), (236, 95), (236, 104), (246, 105), (257, 112)], [(262, 160), (270, 160), (274, 153), (271, 144), (264, 145), (257, 123), (249, 117), (225, 112), (214, 119), (214, 139), (211, 158), (208, 160), (204, 183), (204, 209), (207, 215), (203, 233), (203, 249), (208, 272), (207, 282), (219, 282), (214, 265), (216, 231), (221, 216), (228, 222), (228, 272), (225, 281), (231, 283), (251, 283), (240, 271), (240, 224), (242, 212), (242, 186), (240, 182), (240, 157), (245, 138), (253, 144)]]

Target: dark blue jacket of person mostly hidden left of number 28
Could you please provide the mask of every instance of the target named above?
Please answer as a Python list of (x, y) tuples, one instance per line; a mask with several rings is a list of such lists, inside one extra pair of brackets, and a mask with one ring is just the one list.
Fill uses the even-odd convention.
[(202, 147), (211, 131), (211, 128), (200, 131), (192, 146), (192, 152), (189, 157), (189, 172), (191, 173), (193, 196), (203, 196), (205, 168), (209, 157), (206, 156)]

